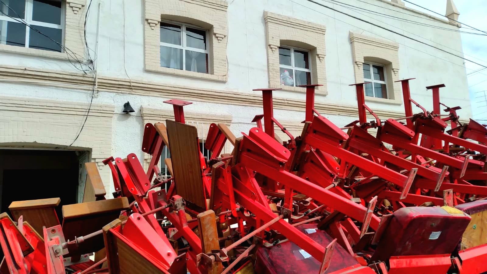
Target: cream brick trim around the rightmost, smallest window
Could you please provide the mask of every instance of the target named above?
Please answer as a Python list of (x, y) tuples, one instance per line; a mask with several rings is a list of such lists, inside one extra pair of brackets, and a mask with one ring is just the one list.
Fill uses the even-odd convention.
[(399, 78), (399, 44), (391, 40), (378, 39), (350, 32), (354, 73), (356, 83), (364, 81), (362, 63), (372, 62), (384, 66), (388, 98), (366, 96), (366, 101), (387, 104), (402, 104)]

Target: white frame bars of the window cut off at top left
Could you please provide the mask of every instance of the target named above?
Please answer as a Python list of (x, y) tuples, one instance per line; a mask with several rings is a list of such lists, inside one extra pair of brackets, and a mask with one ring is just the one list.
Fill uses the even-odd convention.
[[(23, 20), (27, 24), (32, 25), (32, 27), (34, 27), (34, 28), (36, 26), (41, 26), (41, 27), (48, 27), (48, 28), (53, 28), (53, 29), (60, 29), (61, 30), (61, 45), (64, 46), (64, 31), (65, 31), (65, 23), (66, 23), (66, 1), (62, 1), (62, 0), (54, 0), (54, 1), (61, 2), (61, 24), (59, 24), (59, 25), (53, 24), (53, 23), (45, 23), (45, 22), (32, 20), (32, 14), (33, 14), (33, 9), (34, 9), (34, 0), (25, 0), (25, 10), (24, 10), (25, 18), (20, 18), (20, 19), (16, 18), (16, 19), (20, 20), (20, 21)], [(2, 12), (8, 14), (8, 11), (10, 9), (3, 4), (1, 4), (1, 6), (2, 6)], [(0, 13), (0, 20), (21, 24), (19, 21), (12, 19), (6, 15), (3, 15), (2, 13)], [(2, 29), (2, 33), (6, 33), (7, 32), (7, 25), (2, 24), (2, 26), (4, 28), (4, 29)], [(25, 48), (29, 48), (30, 30), (31, 30), (31, 28), (26, 25), (25, 26), (25, 46), (24, 46)], [(1, 43), (1, 40), (0, 40), (0, 43)], [(6, 40), (5, 40), (5, 44), (6, 44)], [(46, 50), (46, 51), (50, 51), (50, 50)], [(56, 51), (54, 51), (54, 52), (56, 52)], [(61, 47), (61, 52), (64, 52), (64, 49), (62, 47)]]

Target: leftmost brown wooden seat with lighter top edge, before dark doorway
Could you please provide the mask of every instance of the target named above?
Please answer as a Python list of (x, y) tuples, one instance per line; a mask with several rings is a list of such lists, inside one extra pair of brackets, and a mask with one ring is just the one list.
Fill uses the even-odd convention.
[(43, 235), (43, 226), (59, 225), (55, 208), (60, 202), (59, 198), (15, 201), (8, 208), (15, 219), (22, 215), (24, 221), (29, 222), (39, 235)]

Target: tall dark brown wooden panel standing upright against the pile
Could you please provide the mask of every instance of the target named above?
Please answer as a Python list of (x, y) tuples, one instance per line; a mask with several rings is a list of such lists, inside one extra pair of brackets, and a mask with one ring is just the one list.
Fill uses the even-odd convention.
[(200, 208), (206, 208), (196, 127), (166, 120), (176, 193)]

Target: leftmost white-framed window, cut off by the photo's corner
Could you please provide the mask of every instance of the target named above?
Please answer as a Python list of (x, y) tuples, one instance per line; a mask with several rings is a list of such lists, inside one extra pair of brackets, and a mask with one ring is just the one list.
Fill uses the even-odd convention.
[[(64, 1), (2, 1), (5, 4), (0, 6), (0, 44), (61, 52)], [(44, 35), (21, 21), (25, 21)]]

